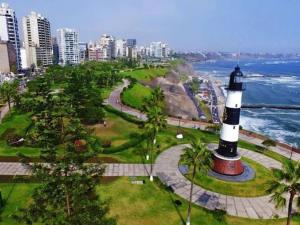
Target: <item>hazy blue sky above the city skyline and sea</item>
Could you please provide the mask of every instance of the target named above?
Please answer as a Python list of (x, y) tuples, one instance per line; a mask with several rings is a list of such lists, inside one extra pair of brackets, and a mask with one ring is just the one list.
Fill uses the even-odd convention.
[[(0, 0), (3, 2), (3, 0)], [(108, 33), (175, 50), (300, 53), (299, 0), (6, 0), (21, 18), (37, 11), (80, 41)], [(20, 28), (22, 30), (22, 28)]]

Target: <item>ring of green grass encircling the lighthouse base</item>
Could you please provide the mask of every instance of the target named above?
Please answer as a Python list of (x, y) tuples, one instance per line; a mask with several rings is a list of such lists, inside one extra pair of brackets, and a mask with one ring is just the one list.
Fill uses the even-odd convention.
[[(239, 197), (257, 197), (266, 195), (268, 182), (272, 180), (271, 171), (253, 160), (247, 158), (243, 158), (242, 160), (255, 170), (254, 179), (245, 182), (229, 182), (197, 173), (195, 183), (205, 189), (225, 195)], [(187, 177), (189, 179), (191, 178), (190, 175)]]

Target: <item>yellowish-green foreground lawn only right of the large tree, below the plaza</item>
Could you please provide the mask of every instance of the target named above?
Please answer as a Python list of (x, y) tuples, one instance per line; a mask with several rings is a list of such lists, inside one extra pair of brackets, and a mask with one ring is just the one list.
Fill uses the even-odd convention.
[[(142, 179), (142, 178), (140, 178)], [(118, 225), (184, 225), (187, 201), (167, 191), (159, 182), (134, 185), (129, 178), (119, 178), (110, 184), (99, 187), (100, 196), (111, 200), (110, 215), (117, 218)], [(182, 202), (181, 206), (174, 204)], [(294, 218), (298, 224), (300, 218)], [(285, 220), (250, 220), (227, 216), (205, 210), (198, 206), (192, 208), (192, 224), (201, 225), (281, 225)]]

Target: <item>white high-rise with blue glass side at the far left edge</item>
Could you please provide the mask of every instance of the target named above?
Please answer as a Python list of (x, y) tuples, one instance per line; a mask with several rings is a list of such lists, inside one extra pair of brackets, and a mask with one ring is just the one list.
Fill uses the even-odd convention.
[(21, 69), (19, 28), (16, 13), (8, 4), (0, 6), (0, 40), (10, 42), (16, 52), (16, 67)]

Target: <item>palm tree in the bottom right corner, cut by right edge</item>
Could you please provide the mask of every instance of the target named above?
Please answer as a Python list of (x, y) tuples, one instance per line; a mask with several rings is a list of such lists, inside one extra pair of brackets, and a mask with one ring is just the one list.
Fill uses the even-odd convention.
[(273, 169), (274, 180), (270, 182), (267, 190), (272, 193), (271, 201), (275, 202), (276, 208), (286, 206), (285, 195), (289, 195), (287, 225), (290, 225), (292, 218), (293, 200), (296, 197), (298, 206), (300, 205), (300, 162), (294, 163), (286, 160), (282, 169)]

